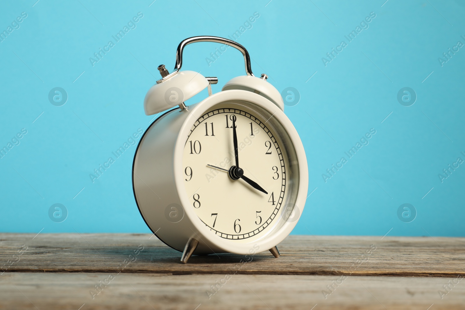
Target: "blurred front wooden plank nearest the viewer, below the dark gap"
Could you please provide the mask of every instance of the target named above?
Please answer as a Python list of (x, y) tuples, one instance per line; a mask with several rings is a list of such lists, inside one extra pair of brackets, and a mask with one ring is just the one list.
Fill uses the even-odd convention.
[(94, 285), (108, 273), (6, 272), (0, 276), (0, 309), (465, 309), (465, 280), (442, 299), (438, 293), (453, 278), (351, 276), (325, 299), (322, 291), (339, 276), (230, 276), (213, 294), (211, 285), (225, 275), (120, 273), (97, 295), (90, 291), (98, 292)]

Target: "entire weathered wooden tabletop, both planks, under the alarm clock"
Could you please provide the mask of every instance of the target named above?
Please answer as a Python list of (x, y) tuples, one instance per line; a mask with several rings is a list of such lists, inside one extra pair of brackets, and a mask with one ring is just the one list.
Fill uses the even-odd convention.
[(465, 238), (289, 236), (184, 265), (150, 234), (34, 235), (0, 234), (0, 309), (465, 309)]

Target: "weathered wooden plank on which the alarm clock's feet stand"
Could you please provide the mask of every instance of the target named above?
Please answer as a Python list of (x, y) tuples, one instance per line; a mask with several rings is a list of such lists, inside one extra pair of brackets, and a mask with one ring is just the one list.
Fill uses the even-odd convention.
[[(219, 254), (193, 256), (184, 265), (179, 264), (180, 252), (150, 234), (40, 233), (34, 236), (0, 234), (2, 265), (8, 260), (11, 264), (13, 254), (18, 254), (22, 245), (27, 246), (22, 255), (14, 258), (16, 261), (5, 274), (120, 271), (174, 275), (231, 272), (246, 275), (465, 275), (465, 238), (289, 236), (278, 246), (282, 254), (279, 258), (266, 251), (243, 264), (243, 256)], [(137, 256), (129, 257), (141, 247), (143, 250)], [(125, 260), (132, 261), (126, 264)]]

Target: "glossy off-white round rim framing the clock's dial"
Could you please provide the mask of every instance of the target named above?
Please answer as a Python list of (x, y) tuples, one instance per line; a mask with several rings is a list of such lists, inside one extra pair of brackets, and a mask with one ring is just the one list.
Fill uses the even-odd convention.
[[(183, 152), (184, 146), (186, 144), (186, 139), (191, 131), (193, 124), (199, 119), (202, 115), (208, 112), (213, 106), (218, 105), (225, 101), (233, 101), (233, 100), (242, 100), (246, 102), (251, 102), (256, 104), (268, 112), (270, 112), (273, 116), (275, 116), (281, 125), (286, 129), (286, 132), (289, 138), (292, 141), (292, 145), (294, 147), (294, 151), (296, 153), (296, 158), (299, 163), (299, 187), (296, 197), (295, 206), (299, 208), (299, 218), (292, 222), (286, 222), (283, 226), (276, 231), (272, 236), (266, 237), (264, 239), (259, 239), (256, 241), (252, 241), (250, 243), (234, 243), (234, 240), (225, 240), (215, 234), (213, 234), (208, 227), (201, 221), (201, 219), (197, 216), (195, 211), (192, 208), (187, 206), (190, 205), (190, 201), (188, 199), (188, 195), (186, 192), (186, 188), (183, 182), (182, 176), (182, 161), (183, 161)], [(192, 109), (189, 112), (189, 115), (184, 120), (183, 125), (181, 126), (178, 134), (178, 138), (176, 139), (174, 145), (174, 160), (173, 160), (173, 173), (174, 173), (174, 183), (176, 185), (176, 190), (178, 192), (179, 200), (181, 205), (183, 206), (185, 216), (187, 216), (190, 220), (195, 229), (201, 234), (201, 238), (204, 237), (209, 243), (214, 244), (218, 248), (231, 253), (237, 254), (250, 254), (252, 250), (253, 253), (261, 252), (271, 249), (272, 247), (279, 244), (281, 241), (284, 240), (295, 227), (297, 222), (302, 215), (302, 211), (305, 207), (306, 202), (306, 194), (308, 191), (308, 166), (306, 160), (306, 154), (304, 147), (302, 145), (302, 141), (295, 129), (292, 122), (287, 118), (286, 114), (279, 109), (272, 101), (266, 99), (259, 94), (254, 92), (249, 92), (245, 90), (226, 90), (217, 92), (206, 99), (202, 100), (198, 104), (193, 106), (188, 106), (187, 109)], [(195, 238), (195, 236), (192, 236)], [(202, 240), (198, 240), (202, 242)], [(259, 246), (259, 250), (256, 251), (255, 246)], [(252, 248), (253, 247), (253, 248)]]

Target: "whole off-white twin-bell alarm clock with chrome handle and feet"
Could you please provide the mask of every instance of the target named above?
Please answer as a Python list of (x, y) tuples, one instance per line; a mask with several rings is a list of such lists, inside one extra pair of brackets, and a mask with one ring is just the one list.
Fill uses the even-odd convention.
[[(181, 71), (184, 47), (194, 42), (232, 46), (246, 75), (213, 93), (216, 77)], [(133, 160), (133, 192), (150, 230), (189, 257), (270, 251), (294, 228), (305, 206), (304, 147), (267, 75), (252, 73), (244, 46), (197, 36), (183, 40), (174, 71), (158, 67), (144, 99), (146, 115), (161, 114), (144, 132)], [(204, 89), (208, 97), (186, 105)]]

